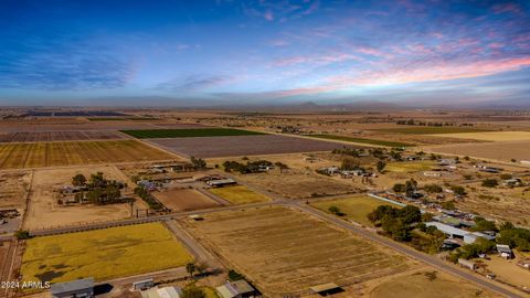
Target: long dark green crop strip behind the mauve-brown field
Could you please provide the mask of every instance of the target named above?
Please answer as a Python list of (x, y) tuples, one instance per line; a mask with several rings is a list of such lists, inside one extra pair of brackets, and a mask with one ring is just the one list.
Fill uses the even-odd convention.
[(265, 135), (258, 131), (233, 128), (139, 129), (120, 131), (138, 139)]

